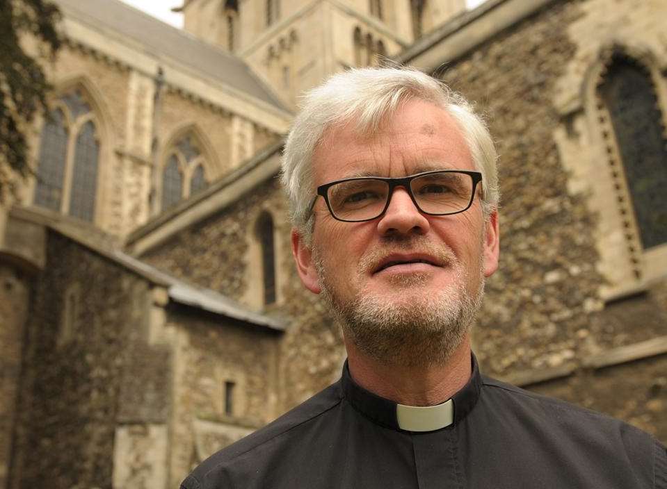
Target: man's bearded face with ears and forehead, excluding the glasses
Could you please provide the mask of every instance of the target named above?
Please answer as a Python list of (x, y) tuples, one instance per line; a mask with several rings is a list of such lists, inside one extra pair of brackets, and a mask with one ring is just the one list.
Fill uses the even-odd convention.
[[(456, 122), (418, 100), (370, 137), (353, 124), (326, 131), (313, 165), (316, 186), (353, 176), (476, 169)], [(426, 215), (399, 187), (371, 221), (337, 221), (321, 198), (314, 219), (312, 247), (295, 233), (294, 254), (307, 288), (324, 292), (341, 316), (346, 340), (390, 363), (447, 360), (468, 334), (484, 277), (497, 268), (497, 215), (485, 219), (479, 197), (463, 213)]]

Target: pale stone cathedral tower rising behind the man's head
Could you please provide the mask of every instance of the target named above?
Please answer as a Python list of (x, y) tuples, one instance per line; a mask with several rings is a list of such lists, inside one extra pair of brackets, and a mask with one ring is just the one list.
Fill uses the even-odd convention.
[(340, 69), (376, 65), (465, 10), (465, 0), (185, 0), (185, 30), (243, 58), (294, 106)]

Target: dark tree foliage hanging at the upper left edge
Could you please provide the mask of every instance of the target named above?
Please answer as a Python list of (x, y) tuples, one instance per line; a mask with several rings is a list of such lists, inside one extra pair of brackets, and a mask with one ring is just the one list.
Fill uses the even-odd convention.
[[(51, 88), (39, 60), (60, 49), (60, 18), (49, 0), (0, 0), (0, 197), (15, 175), (30, 173), (26, 131), (36, 114), (47, 113)], [(26, 50), (35, 41), (35, 52)]]

